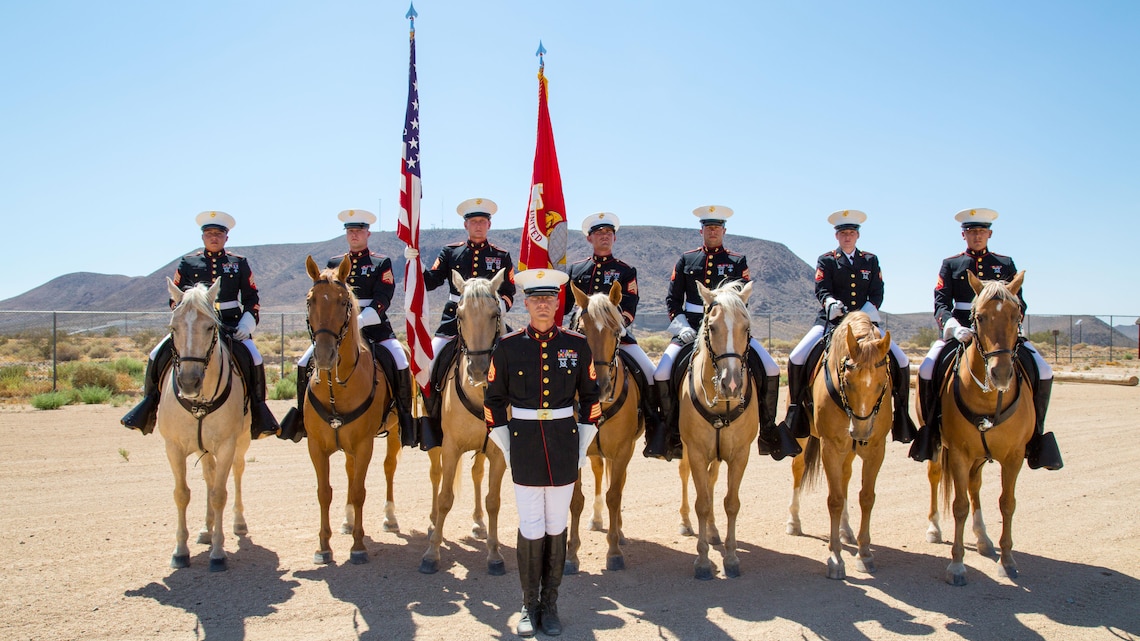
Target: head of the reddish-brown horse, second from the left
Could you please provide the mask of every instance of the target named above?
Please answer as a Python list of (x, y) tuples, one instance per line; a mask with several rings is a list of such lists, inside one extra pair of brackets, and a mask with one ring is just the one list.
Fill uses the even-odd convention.
[[(318, 371), (327, 372), (336, 367), (342, 343), (353, 349), (359, 347), (356, 317), (360, 310), (347, 281), (352, 262), (344, 254), (335, 269), (321, 270), (310, 255), (304, 260), (304, 269), (312, 278), (312, 287), (304, 299), (314, 346), (312, 363)], [(349, 342), (345, 343), (345, 339)]]

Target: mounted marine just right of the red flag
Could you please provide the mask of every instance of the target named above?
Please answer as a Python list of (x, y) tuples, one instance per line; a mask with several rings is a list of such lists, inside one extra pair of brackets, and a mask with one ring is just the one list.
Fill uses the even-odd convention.
[[(621, 286), (621, 302), (618, 307), (621, 309), (625, 327), (618, 338), (618, 349), (633, 357), (637, 364), (638, 373), (635, 379), (638, 384), (643, 384), (642, 411), (645, 416), (645, 441), (649, 443), (651, 433), (665, 429), (660, 416), (661, 401), (657, 398), (657, 386), (651, 379), (657, 366), (637, 344), (630, 327), (637, 316), (641, 297), (637, 293), (637, 269), (613, 257), (613, 243), (619, 227), (621, 221), (610, 212), (593, 213), (583, 220), (581, 233), (593, 246), (594, 255), (570, 266), (570, 282), (586, 295), (609, 294), (613, 283)], [(567, 295), (565, 299), (563, 314), (569, 315), (575, 307), (575, 298)]]

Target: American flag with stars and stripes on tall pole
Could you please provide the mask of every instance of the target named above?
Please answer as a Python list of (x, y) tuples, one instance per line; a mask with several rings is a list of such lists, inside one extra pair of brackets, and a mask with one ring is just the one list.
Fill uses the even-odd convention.
[[(404, 318), (412, 349), (412, 374), (421, 390), (431, 375), (431, 334), (424, 324), (430, 314), (420, 263), (420, 88), (416, 83), (416, 8), (408, 6), (410, 57), (408, 62), (408, 108), (404, 119), (404, 154), (400, 160), (400, 220), (396, 236), (408, 245), (404, 266)], [(415, 250), (414, 252), (412, 250)]]

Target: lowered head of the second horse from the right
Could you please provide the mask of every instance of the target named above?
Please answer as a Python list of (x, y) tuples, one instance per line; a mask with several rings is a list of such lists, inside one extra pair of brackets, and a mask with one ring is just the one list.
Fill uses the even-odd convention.
[[(866, 314), (854, 311), (844, 317), (836, 334), (828, 368), (836, 372), (836, 388), (850, 420), (848, 433), (853, 440), (866, 443), (883, 401), (890, 398), (890, 332), (880, 336)], [(883, 412), (883, 416), (889, 422), (891, 412)]]

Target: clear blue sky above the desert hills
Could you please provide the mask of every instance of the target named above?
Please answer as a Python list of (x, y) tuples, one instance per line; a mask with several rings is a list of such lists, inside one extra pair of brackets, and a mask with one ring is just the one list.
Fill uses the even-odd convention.
[[(394, 229), (408, 3), (108, 0), (0, 5), (0, 299), (71, 271), (148, 274), (198, 246)], [(814, 265), (861, 209), (883, 308), (931, 309), (953, 214), (1000, 212), (991, 249), (1037, 314), (1140, 314), (1140, 3), (613, 0), (416, 2), (425, 226), (499, 204), (519, 227), (538, 59), (576, 227), (728, 232)], [(457, 238), (459, 235), (457, 234)], [(694, 232), (694, 246), (697, 235)], [(635, 237), (620, 235), (622, 243)], [(516, 248), (512, 248), (518, 251)], [(763, 262), (752, 261), (763, 270)], [(254, 266), (256, 268), (256, 266)], [(67, 301), (59, 301), (60, 308)]]

